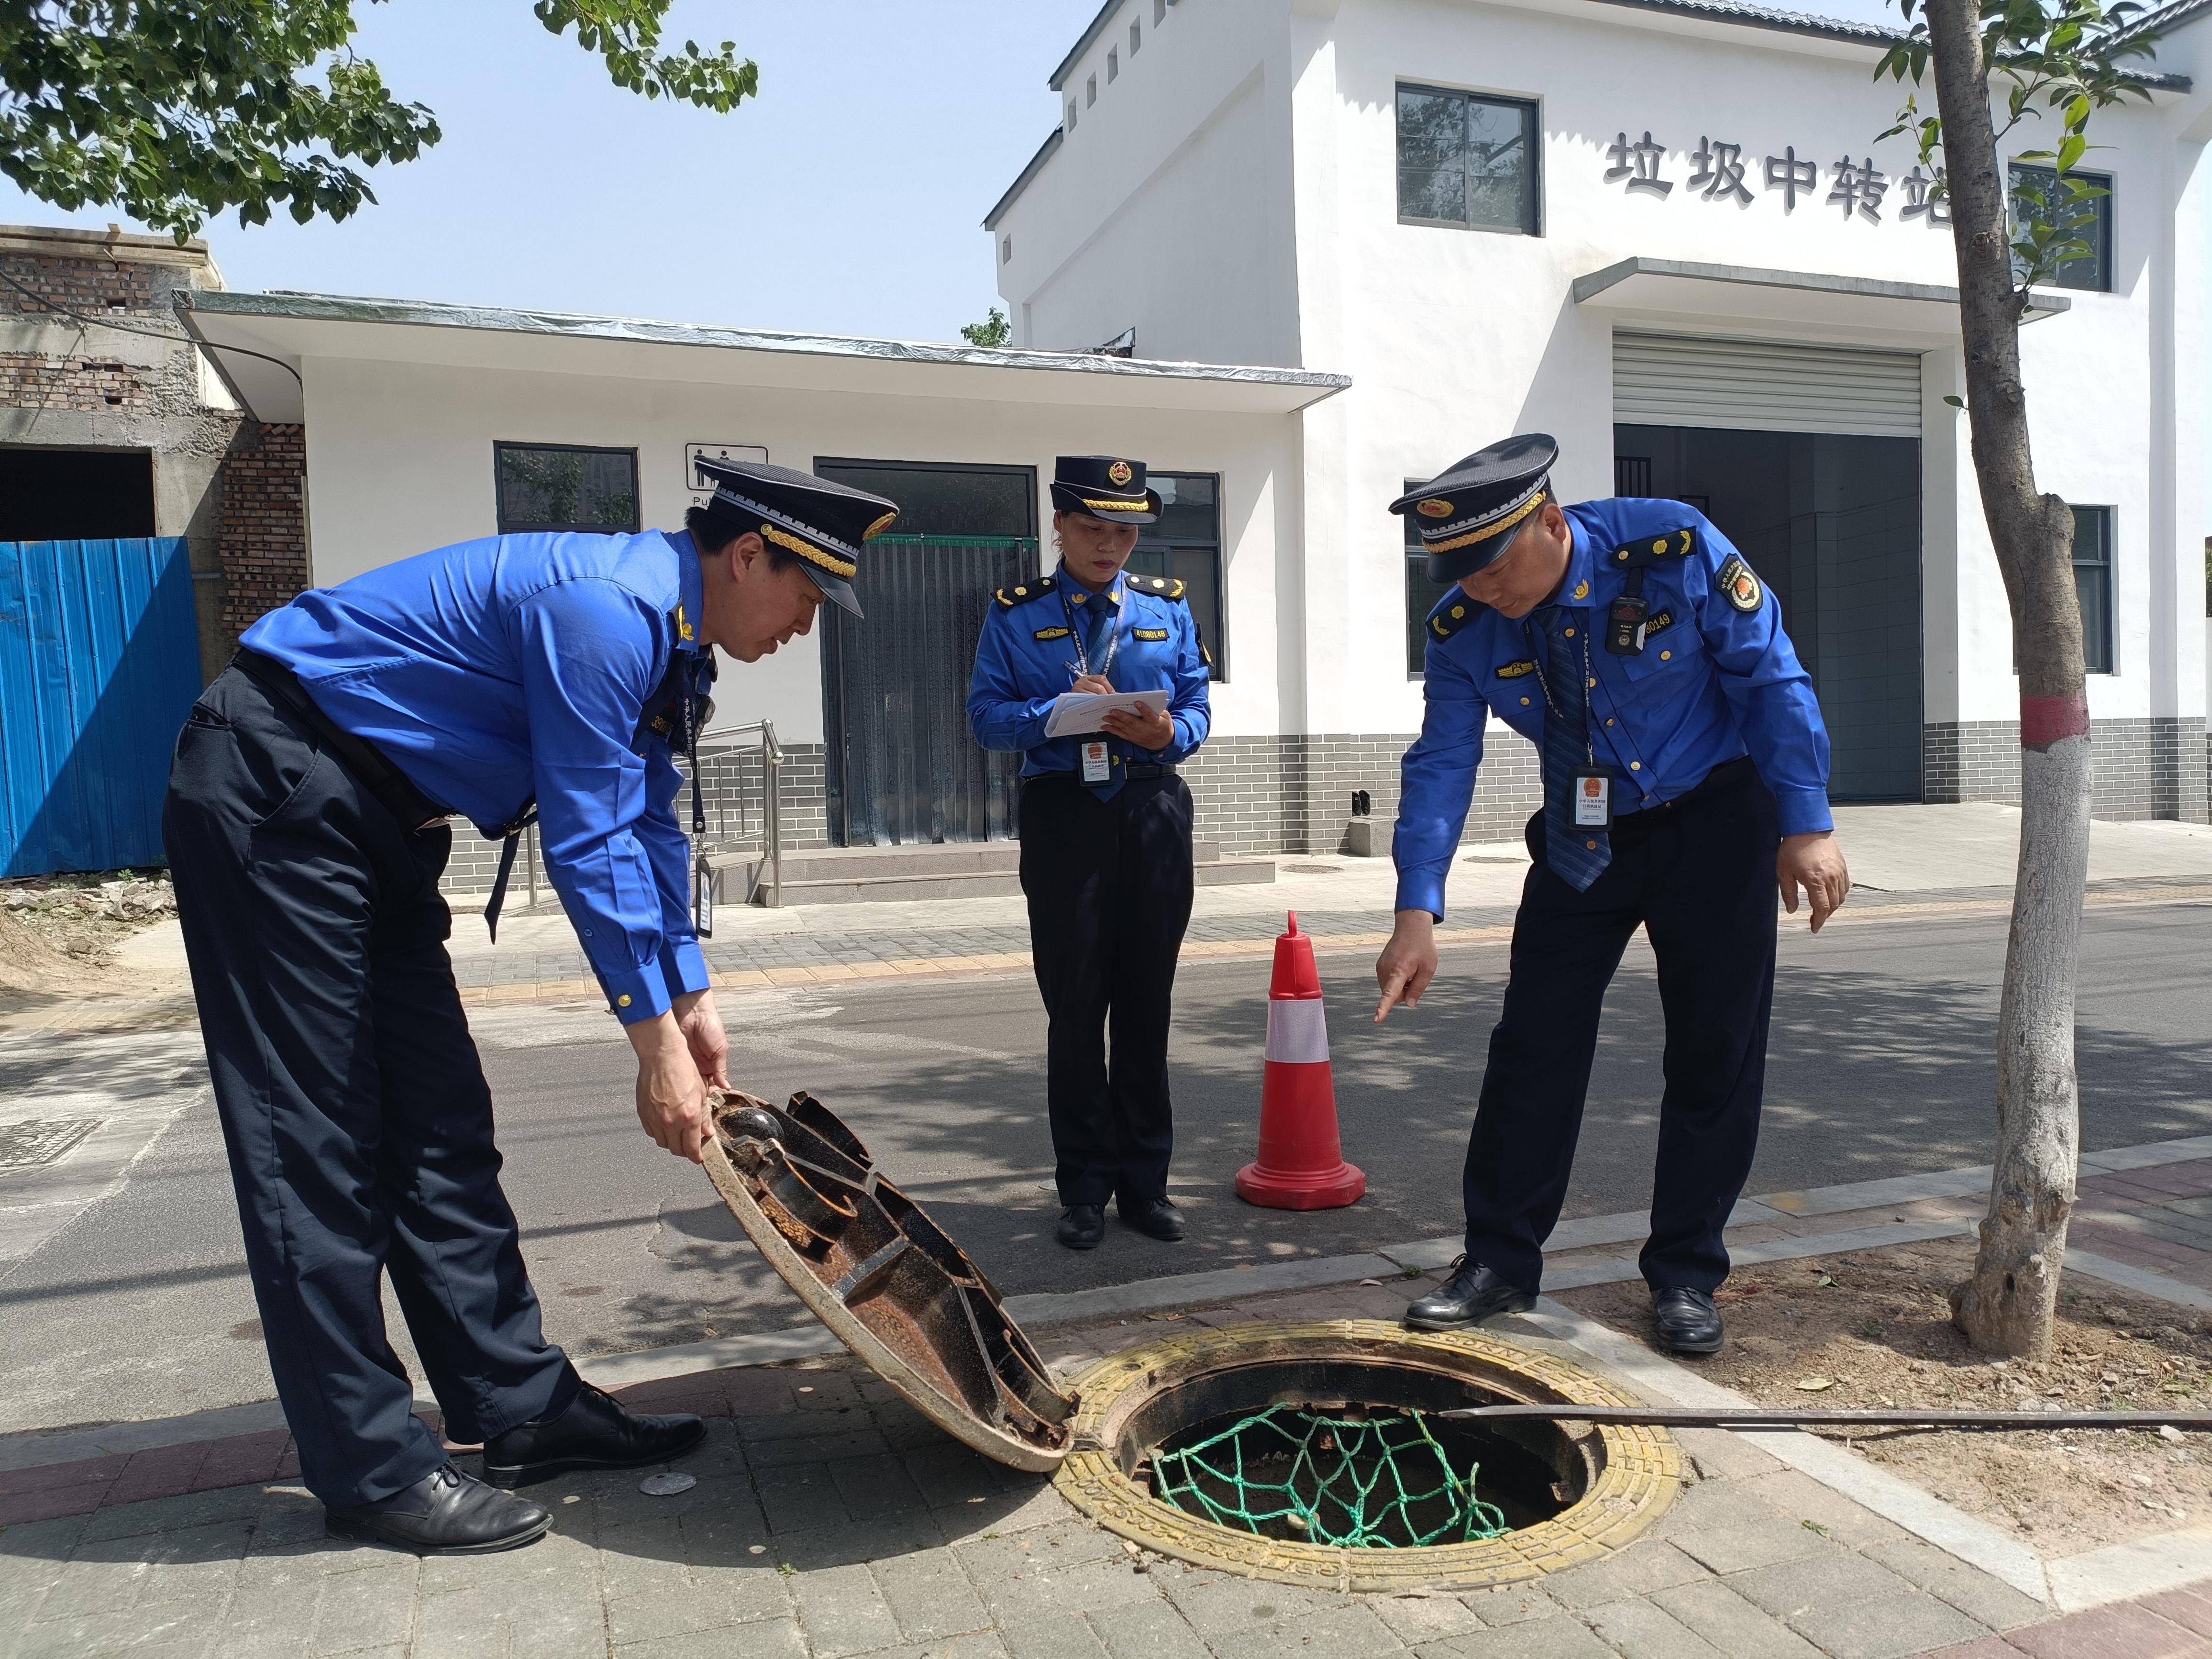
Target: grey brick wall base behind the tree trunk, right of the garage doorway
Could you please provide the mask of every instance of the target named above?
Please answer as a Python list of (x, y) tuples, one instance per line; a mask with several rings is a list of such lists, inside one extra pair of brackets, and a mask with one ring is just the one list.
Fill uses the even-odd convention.
[[(2201, 719), (2157, 714), (2090, 723), (2093, 794), (2099, 818), (2208, 823), (2208, 761)], [(1924, 801), (2020, 805), (2020, 721), (1938, 721), (1922, 728)]]

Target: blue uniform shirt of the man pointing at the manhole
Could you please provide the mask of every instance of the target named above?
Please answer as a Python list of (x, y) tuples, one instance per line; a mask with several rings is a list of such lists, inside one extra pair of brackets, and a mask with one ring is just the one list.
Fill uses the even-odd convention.
[[(1617, 814), (1672, 801), (1750, 754), (1785, 836), (1832, 830), (1827, 726), (1783, 633), (1781, 606), (1703, 513), (1683, 502), (1604, 500), (1566, 509), (1575, 553), (1555, 604), (1590, 646), (1590, 743), (1610, 765)], [(1663, 549), (1663, 551), (1661, 551)], [(1628, 586), (1621, 553), (1652, 555), (1644, 653), (1606, 650), (1606, 608)], [(1444, 916), (1444, 876), (1467, 825), (1495, 710), (1544, 748), (1544, 637), (1453, 586), (1429, 613), (1427, 710), (1398, 796), (1398, 909)]]

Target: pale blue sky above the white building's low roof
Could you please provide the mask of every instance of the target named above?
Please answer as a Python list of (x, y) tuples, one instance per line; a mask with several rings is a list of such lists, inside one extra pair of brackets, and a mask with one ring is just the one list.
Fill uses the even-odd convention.
[[(1889, 0), (1803, 9), (1898, 20)], [(356, 0), (356, 51), (445, 139), (372, 168), (378, 204), (345, 223), (201, 234), (239, 290), (956, 341), (995, 301), (982, 217), (1057, 124), (1046, 77), (1095, 13), (677, 0), (670, 44), (734, 40), (761, 66), (761, 95), (714, 115), (613, 86), (529, 0)], [(0, 223), (108, 221), (0, 179)]]

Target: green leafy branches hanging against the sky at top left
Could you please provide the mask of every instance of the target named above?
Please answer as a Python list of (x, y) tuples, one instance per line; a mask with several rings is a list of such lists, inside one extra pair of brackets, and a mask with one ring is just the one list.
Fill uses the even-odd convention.
[[(378, 4), (380, 0), (372, 0)], [(759, 88), (732, 42), (661, 53), (670, 0), (535, 0), (630, 93), (717, 113)], [(0, 0), (0, 173), (55, 208), (117, 208), (184, 241), (237, 208), (345, 219), (347, 161), (411, 161), (438, 117), (356, 58), (352, 0)]]

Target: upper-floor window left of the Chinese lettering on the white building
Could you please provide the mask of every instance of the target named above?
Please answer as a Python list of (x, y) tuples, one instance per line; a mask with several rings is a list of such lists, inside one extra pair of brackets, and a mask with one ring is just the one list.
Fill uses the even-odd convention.
[(1520, 97), (1400, 84), (1400, 223), (1542, 234), (1535, 115)]

